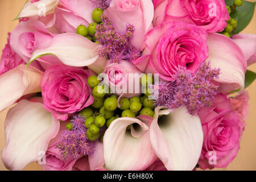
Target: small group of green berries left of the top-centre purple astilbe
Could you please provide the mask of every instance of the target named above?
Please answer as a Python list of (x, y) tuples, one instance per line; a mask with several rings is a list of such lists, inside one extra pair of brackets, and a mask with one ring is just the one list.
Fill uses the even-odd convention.
[(100, 8), (96, 8), (92, 12), (92, 19), (93, 23), (90, 23), (88, 27), (81, 24), (76, 28), (76, 33), (79, 35), (84, 36), (85, 38), (89, 39), (90, 41), (94, 43), (99, 43), (96, 41), (96, 38), (94, 37), (96, 33), (96, 25), (98, 23), (101, 23), (101, 15), (103, 14), (103, 10)]

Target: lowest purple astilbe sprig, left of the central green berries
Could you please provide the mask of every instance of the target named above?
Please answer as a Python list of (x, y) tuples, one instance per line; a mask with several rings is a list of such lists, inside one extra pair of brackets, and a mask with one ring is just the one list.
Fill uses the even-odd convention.
[(93, 154), (95, 142), (86, 136), (85, 118), (81, 114), (74, 115), (70, 122), (73, 125), (72, 130), (64, 130), (63, 140), (55, 145), (61, 151), (63, 159), (67, 159), (68, 155), (78, 159), (81, 155)]

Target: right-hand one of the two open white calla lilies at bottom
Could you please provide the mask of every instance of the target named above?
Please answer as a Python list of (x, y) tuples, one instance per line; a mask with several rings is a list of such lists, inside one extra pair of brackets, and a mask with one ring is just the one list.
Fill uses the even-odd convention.
[[(160, 109), (163, 107), (156, 107), (155, 119), (150, 126), (150, 140), (155, 154), (168, 170), (192, 170), (203, 146), (200, 118), (188, 114), (184, 108), (172, 113), (171, 110)], [(158, 118), (162, 114), (162, 118)]]

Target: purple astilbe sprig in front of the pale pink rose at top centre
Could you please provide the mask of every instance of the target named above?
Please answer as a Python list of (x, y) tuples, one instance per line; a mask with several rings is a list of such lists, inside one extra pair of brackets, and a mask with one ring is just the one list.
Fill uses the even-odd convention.
[(119, 34), (108, 16), (101, 15), (101, 20), (103, 23), (96, 26), (95, 34), (96, 40), (102, 45), (98, 52), (101, 57), (108, 57), (113, 63), (118, 63), (120, 60), (131, 63), (132, 60), (141, 56), (141, 52), (130, 44), (135, 31), (133, 25), (128, 24), (125, 32)]

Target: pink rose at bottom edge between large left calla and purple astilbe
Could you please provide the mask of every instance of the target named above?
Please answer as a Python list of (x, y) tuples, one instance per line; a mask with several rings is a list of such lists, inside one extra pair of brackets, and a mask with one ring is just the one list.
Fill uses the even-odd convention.
[(66, 124), (67, 122), (60, 123), (59, 133), (49, 142), (46, 151), (46, 164), (41, 165), (44, 171), (71, 171), (77, 161), (77, 159), (73, 159), (71, 155), (68, 155), (67, 159), (63, 159), (61, 151), (55, 147), (55, 144), (62, 139), (61, 135), (63, 131), (66, 130)]

